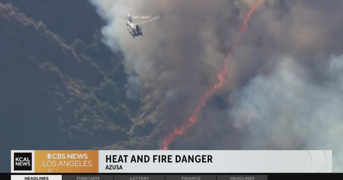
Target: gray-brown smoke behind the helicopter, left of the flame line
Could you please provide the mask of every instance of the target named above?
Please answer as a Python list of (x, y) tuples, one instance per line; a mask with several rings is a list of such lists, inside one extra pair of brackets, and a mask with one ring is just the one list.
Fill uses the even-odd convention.
[[(243, 18), (237, 14), (238, 4), (244, 13), (249, 9), (247, 3), (224, 0), (91, 2), (107, 21), (101, 31), (104, 43), (113, 51), (124, 53), (128, 97), (137, 98), (145, 83), (154, 84), (156, 91), (162, 92), (162, 99), (161, 109), (152, 121), (164, 120), (173, 125), (188, 119), (199, 98), (217, 80), (229, 48), (223, 47), (229, 42), (221, 40), (226, 35), (218, 36), (218, 31), (227, 32), (228, 40), (237, 33), (239, 23), (227, 20)], [(160, 15), (161, 19), (141, 24), (144, 36), (133, 39), (126, 26), (128, 13)], [(134, 21), (141, 23), (146, 19)]]

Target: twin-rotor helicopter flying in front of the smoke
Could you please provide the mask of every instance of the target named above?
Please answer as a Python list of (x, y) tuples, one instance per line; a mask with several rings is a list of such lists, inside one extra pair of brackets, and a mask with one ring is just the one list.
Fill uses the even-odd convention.
[[(147, 19), (147, 20), (136, 24), (133, 21), (133, 19)], [(140, 26), (141, 24), (151, 22), (151, 21), (156, 21), (159, 19), (160, 19), (160, 15), (152, 17), (152, 16), (130, 16), (130, 14), (128, 14), (128, 21), (126, 25), (129, 30), (129, 34), (131, 34), (134, 39), (135, 36), (143, 36), (142, 27)]]

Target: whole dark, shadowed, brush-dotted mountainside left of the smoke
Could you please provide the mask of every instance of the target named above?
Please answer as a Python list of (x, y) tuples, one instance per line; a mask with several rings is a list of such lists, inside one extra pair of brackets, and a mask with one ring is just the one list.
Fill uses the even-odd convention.
[(86, 0), (0, 0), (2, 171), (10, 149), (89, 149), (132, 138), (141, 104), (126, 97), (123, 55), (102, 43), (102, 24)]

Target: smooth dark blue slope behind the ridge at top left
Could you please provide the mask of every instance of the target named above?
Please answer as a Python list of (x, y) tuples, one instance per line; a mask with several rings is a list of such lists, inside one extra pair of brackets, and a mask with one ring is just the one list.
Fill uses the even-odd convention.
[(66, 39), (68, 44), (75, 39), (92, 43), (93, 33), (104, 25), (88, 0), (0, 0), (0, 3), (12, 3), (27, 17), (43, 21), (50, 31)]

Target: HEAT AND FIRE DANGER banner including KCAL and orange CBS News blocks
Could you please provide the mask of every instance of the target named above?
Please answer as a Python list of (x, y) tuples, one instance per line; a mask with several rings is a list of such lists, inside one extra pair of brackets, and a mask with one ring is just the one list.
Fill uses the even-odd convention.
[(332, 151), (12, 150), (11, 172), (332, 172)]

